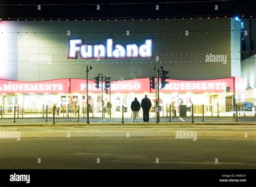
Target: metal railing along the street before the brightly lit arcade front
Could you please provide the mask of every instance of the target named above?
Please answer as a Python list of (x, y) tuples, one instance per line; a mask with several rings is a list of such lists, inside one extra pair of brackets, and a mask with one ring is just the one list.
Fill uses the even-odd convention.
[[(42, 107), (0, 107), (0, 122), (86, 122), (86, 106), (42, 106)], [(149, 122), (157, 122), (155, 107), (149, 110)], [(256, 123), (256, 106), (245, 105), (193, 105), (160, 106), (160, 122), (197, 122), (197, 121), (251, 121)], [(136, 115), (136, 117), (134, 117)], [(145, 117), (145, 116), (144, 116)], [(103, 122), (143, 122), (143, 109), (133, 113), (130, 107), (116, 108), (89, 107), (89, 121)]]

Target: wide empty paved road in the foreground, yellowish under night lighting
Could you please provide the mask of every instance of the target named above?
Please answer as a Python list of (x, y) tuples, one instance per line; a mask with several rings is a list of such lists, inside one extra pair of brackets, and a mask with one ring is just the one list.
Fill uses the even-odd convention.
[[(248, 125), (1, 130), (19, 130), (21, 140), (0, 138), (0, 169), (256, 169), (255, 127)], [(197, 140), (176, 138), (178, 130), (197, 131)]]

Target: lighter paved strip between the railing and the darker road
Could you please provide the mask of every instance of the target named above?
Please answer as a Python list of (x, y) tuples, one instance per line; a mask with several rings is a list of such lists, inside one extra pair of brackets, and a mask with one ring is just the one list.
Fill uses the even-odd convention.
[(24, 137), (175, 137), (179, 130), (196, 131), (198, 138), (256, 137), (255, 124), (34, 124), (1, 126), (1, 130), (19, 131)]

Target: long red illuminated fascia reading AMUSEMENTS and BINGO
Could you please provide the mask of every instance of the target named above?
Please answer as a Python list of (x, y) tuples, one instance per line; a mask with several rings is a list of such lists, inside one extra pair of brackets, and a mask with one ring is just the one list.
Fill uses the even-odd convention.
[[(204, 93), (204, 92), (244, 92), (244, 79), (241, 77), (213, 79), (213, 80), (173, 80), (167, 79), (169, 84), (160, 89), (163, 93)], [(235, 84), (234, 84), (235, 82)], [(89, 80), (89, 93), (101, 93), (100, 88), (95, 87), (94, 80)], [(104, 84), (103, 84), (104, 86)], [(111, 81), (111, 93), (150, 93), (149, 78)], [(151, 93), (155, 90), (151, 89)], [(43, 94), (43, 93), (86, 93), (85, 79), (56, 79), (38, 82), (24, 82), (12, 80), (0, 80), (0, 94)]]

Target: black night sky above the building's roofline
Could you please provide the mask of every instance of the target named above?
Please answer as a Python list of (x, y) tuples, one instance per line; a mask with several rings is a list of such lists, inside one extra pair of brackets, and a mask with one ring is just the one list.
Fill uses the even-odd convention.
[[(86, 2), (86, 3), (85, 3)], [(37, 10), (37, 5), (41, 10)], [(96, 10), (97, 4), (100, 10)], [(0, 1), (0, 18), (149, 18), (206, 17), (256, 13), (254, 1)], [(159, 5), (159, 10), (156, 10)], [(218, 10), (214, 6), (218, 5)]]

